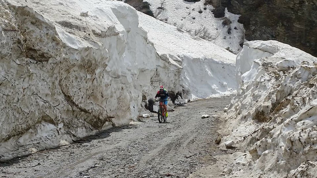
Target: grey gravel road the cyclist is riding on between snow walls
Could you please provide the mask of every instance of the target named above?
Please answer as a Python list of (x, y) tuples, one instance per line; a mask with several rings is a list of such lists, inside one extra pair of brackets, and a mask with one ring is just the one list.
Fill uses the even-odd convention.
[[(74, 144), (0, 163), (0, 177), (187, 177), (216, 163), (219, 115), (232, 96), (177, 107), (166, 123), (156, 117), (115, 127)], [(220, 114), (219, 114), (220, 113)], [(201, 119), (208, 114), (210, 118)]]

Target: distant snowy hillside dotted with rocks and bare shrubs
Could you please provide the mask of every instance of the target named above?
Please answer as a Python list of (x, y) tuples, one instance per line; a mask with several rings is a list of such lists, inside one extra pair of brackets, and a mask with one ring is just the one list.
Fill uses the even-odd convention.
[[(212, 5), (204, 5), (205, 1), (186, 2), (183, 0), (144, 0), (150, 4), (154, 16), (179, 29), (203, 37), (223, 48), (230, 48), (238, 53), (244, 40), (243, 24), (238, 23), (240, 15), (225, 9), (223, 18), (215, 18)], [(162, 4), (163, 3), (163, 4)], [(229, 19), (230, 24), (223, 24)]]

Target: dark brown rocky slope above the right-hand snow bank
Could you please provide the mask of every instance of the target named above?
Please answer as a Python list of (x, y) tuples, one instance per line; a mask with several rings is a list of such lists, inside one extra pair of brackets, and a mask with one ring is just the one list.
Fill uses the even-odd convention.
[(316, 0), (206, 0), (224, 16), (224, 9), (240, 14), (246, 40), (278, 40), (317, 56)]

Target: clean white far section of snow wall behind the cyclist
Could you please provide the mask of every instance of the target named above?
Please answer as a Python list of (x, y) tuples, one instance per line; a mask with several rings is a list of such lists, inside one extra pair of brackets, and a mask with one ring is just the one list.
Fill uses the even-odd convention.
[(138, 14), (139, 26), (147, 32), (160, 58), (184, 69), (180, 83), (185, 98), (235, 94), (236, 55), (151, 16)]

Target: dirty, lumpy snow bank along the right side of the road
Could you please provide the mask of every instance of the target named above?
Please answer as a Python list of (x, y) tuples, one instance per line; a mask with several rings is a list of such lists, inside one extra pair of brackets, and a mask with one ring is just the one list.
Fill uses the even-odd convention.
[(234, 164), (231, 175), (316, 176), (308, 167), (317, 163), (317, 58), (277, 41), (250, 41), (236, 64), (239, 89), (223, 140), (237, 140), (252, 158)]

